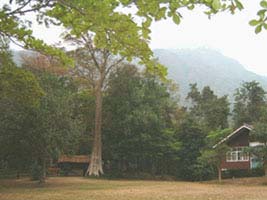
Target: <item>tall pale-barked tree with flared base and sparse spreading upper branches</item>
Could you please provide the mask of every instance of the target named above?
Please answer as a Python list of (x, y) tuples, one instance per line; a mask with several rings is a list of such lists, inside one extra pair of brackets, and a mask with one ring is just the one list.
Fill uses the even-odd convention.
[(124, 58), (114, 58), (107, 49), (97, 49), (92, 43), (89, 34), (79, 40), (72, 38), (76, 43), (83, 43), (83, 48), (73, 52), (76, 64), (72, 70), (73, 76), (83, 79), (83, 86), (93, 91), (95, 96), (95, 125), (94, 141), (91, 152), (88, 175), (99, 176), (102, 169), (102, 99), (110, 72), (120, 66)]

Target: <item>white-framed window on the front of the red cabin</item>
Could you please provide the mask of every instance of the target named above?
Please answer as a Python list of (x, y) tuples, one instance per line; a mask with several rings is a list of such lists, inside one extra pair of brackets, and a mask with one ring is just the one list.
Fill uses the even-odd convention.
[(249, 161), (249, 153), (244, 152), (242, 146), (237, 146), (231, 148), (230, 151), (226, 153), (226, 162), (247, 162)]

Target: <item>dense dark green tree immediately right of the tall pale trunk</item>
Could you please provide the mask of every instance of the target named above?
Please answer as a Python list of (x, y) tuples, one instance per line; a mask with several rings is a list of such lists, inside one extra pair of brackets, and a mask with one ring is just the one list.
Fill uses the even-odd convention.
[(131, 65), (110, 77), (104, 98), (103, 149), (111, 173), (174, 175), (179, 108), (168, 90), (166, 82)]

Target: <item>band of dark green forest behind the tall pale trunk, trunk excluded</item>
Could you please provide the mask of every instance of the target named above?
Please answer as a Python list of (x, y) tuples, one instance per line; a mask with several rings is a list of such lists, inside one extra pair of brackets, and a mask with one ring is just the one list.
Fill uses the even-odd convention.
[[(81, 69), (40, 54), (22, 55), (18, 67), (8, 43), (1, 45), (1, 171), (44, 178), (51, 159), (90, 155), (96, 97), (77, 75)], [(216, 156), (227, 149), (212, 146), (243, 123), (266, 127), (266, 92), (259, 83), (240, 85), (232, 106), (209, 86), (190, 88), (184, 107), (172, 80), (127, 62), (112, 70), (102, 102), (105, 177), (215, 178)]]

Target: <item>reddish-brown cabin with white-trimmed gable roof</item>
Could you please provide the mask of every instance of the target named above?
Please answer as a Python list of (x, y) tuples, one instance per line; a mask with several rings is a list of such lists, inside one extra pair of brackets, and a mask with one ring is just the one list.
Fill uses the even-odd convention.
[(216, 146), (226, 143), (231, 149), (226, 153), (225, 159), (221, 163), (222, 171), (229, 169), (255, 169), (261, 166), (261, 161), (255, 155), (244, 151), (246, 147), (260, 144), (259, 142), (250, 141), (252, 129), (252, 126), (244, 124), (214, 146), (216, 148)]

